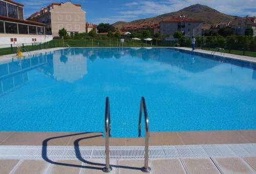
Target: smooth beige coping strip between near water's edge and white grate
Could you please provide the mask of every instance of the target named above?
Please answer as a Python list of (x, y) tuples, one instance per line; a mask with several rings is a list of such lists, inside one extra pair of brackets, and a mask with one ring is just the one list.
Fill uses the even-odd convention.
[[(151, 132), (150, 145), (256, 143), (256, 130)], [(0, 132), (0, 145), (103, 146), (102, 132)], [(110, 138), (111, 146), (141, 146), (144, 138)]]

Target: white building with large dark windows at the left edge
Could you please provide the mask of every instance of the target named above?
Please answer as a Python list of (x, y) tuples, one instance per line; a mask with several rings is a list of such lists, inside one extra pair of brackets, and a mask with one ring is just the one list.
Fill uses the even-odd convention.
[(1, 45), (46, 42), (51, 39), (51, 36), (45, 35), (44, 23), (24, 20), (23, 4), (0, 0)]

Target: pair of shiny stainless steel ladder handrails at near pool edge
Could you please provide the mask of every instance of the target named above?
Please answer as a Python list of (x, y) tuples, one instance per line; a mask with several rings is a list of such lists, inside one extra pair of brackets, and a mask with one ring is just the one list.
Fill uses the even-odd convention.
[[(145, 98), (141, 97), (140, 101), (140, 114), (139, 114), (139, 137), (141, 137), (141, 120), (142, 112), (144, 112), (145, 117), (145, 157), (144, 157), (144, 166), (141, 168), (143, 172), (150, 172), (151, 168), (148, 166), (148, 145), (150, 139), (150, 132), (148, 126), (148, 116), (146, 109)], [(110, 166), (110, 137), (111, 137), (111, 119), (110, 119), (110, 100), (109, 97), (106, 97), (105, 103), (105, 167), (103, 168), (104, 172), (111, 172), (112, 167)]]

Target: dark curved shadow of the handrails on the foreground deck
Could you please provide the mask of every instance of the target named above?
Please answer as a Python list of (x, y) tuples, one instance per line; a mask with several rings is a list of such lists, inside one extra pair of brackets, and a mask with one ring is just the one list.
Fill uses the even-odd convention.
[[(63, 135), (63, 136), (57, 136), (57, 137), (51, 137), (51, 138), (45, 139), (42, 142), (42, 151), (41, 151), (42, 159), (44, 159), (45, 161), (47, 161), (47, 162), (49, 162), (51, 164), (55, 164), (55, 165), (62, 165), (62, 166), (69, 166), (69, 167), (78, 167), (78, 168), (88, 168), (88, 169), (94, 169), (94, 170), (102, 170), (103, 167), (105, 166), (104, 163), (103, 164), (102, 163), (95, 163), (95, 162), (90, 162), (90, 161), (84, 159), (82, 157), (80, 149), (79, 149), (79, 142), (81, 140), (90, 139), (90, 138), (96, 138), (96, 137), (103, 137), (103, 135), (102, 135), (103, 133), (102, 132), (98, 132), (101, 135), (94, 135), (94, 136), (83, 137), (83, 138), (76, 139), (74, 141), (74, 150), (75, 150), (75, 154), (76, 154), (77, 159), (80, 160), (81, 162), (83, 162), (84, 164), (94, 165), (95, 167), (94, 166), (86, 166), (86, 165), (77, 165), (77, 164), (68, 164), (68, 163), (56, 162), (56, 161), (53, 161), (53, 160), (49, 159), (48, 156), (47, 156), (47, 146), (48, 146), (48, 142), (50, 140), (58, 139), (58, 138), (65, 138), (65, 137), (71, 137), (71, 136), (77, 136), (77, 135), (86, 135), (86, 134), (90, 134), (90, 133), (97, 133), (97, 132), (77, 133), (77, 134)], [(111, 165), (111, 167), (133, 169), (133, 170), (141, 170), (142, 169), (141, 167), (130, 167), (130, 166), (121, 166), (121, 165)]]

